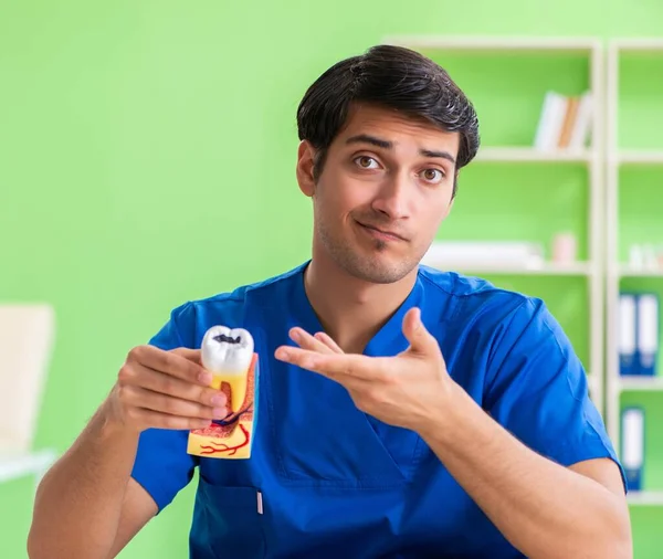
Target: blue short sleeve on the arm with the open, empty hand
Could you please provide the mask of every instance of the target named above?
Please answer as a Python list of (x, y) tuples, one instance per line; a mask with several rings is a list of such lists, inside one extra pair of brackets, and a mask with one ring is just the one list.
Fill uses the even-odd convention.
[(613, 460), (625, 488), (623, 468), (589, 398), (585, 368), (545, 304), (527, 298), (504, 331), (488, 363), (486, 411), (524, 444), (561, 465)]

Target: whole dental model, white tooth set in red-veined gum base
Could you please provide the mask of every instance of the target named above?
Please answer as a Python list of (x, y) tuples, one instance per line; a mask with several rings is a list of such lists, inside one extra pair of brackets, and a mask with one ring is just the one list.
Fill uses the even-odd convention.
[(212, 373), (211, 387), (225, 393), (229, 414), (208, 428), (189, 432), (187, 452), (196, 456), (249, 458), (257, 419), (257, 354), (243, 328), (210, 328), (201, 344), (202, 366)]

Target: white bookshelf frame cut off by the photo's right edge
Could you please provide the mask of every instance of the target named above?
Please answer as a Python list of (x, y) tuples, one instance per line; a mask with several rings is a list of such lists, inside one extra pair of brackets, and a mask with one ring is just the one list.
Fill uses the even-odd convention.
[[(663, 281), (663, 267), (633, 266), (620, 261), (620, 170), (633, 166), (661, 167), (663, 149), (622, 149), (619, 143), (620, 61), (621, 56), (660, 53), (663, 73), (663, 40), (628, 39), (608, 42), (606, 96), (606, 416), (608, 431), (618, 453), (621, 447), (621, 394), (624, 391), (663, 391), (661, 377), (621, 377), (619, 373), (618, 312), (620, 282), (623, 278), (656, 278)], [(628, 192), (622, 192), (628, 196)], [(646, 429), (646, 428), (645, 428)], [(645, 466), (646, 467), (646, 466)], [(663, 506), (663, 492), (632, 492), (629, 503), (640, 506)]]

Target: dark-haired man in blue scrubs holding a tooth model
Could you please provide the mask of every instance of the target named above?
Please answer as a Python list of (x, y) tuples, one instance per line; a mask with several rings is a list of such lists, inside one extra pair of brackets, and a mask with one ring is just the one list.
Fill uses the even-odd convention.
[[(621, 468), (545, 305), (419, 265), (478, 147), (465, 95), (378, 46), (297, 119), (312, 260), (176, 308), (129, 352), (40, 486), (31, 557), (114, 557), (196, 467), (194, 559), (631, 557)], [(228, 412), (200, 365), (214, 325), (260, 355), (250, 460), (186, 452)]]

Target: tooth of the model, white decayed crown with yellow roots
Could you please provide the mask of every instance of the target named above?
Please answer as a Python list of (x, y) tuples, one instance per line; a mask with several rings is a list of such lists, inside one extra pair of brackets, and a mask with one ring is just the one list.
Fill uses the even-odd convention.
[(210, 328), (201, 345), (202, 366), (212, 373), (212, 388), (230, 384), (231, 409), (240, 411), (246, 397), (249, 367), (253, 359), (253, 337), (243, 328)]

